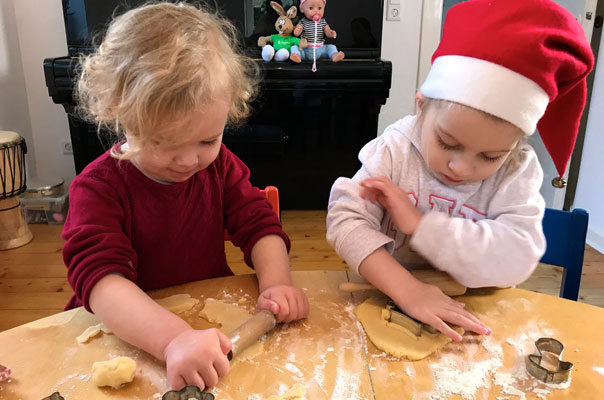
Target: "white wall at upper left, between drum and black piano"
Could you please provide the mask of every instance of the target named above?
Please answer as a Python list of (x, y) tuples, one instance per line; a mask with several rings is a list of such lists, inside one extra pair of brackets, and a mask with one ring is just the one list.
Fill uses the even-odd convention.
[[(75, 176), (72, 155), (62, 153), (69, 140), (67, 116), (48, 96), (42, 62), (67, 55), (60, 0), (0, 1), (0, 129), (19, 132), (28, 145), (27, 175)], [(2, 54), (2, 42), (7, 57)]]

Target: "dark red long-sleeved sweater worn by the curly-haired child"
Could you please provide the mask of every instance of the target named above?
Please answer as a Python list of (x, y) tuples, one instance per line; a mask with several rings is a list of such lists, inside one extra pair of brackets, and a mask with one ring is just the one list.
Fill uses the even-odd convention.
[(109, 273), (145, 291), (232, 275), (225, 228), (251, 267), (252, 248), (265, 235), (281, 236), (289, 250), (279, 219), (249, 175), (224, 145), (205, 170), (173, 185), (109, 152), (96, 159), (69, 188), (63, 260), (75, 295), (66, 309), (90, 311), (90, 292)]

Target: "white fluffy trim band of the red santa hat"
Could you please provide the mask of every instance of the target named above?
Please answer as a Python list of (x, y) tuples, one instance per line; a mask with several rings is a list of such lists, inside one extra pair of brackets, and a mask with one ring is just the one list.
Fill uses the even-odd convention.
[(449, 100), (484, 111), (532, 135), (549, 96), (531, 79), (499, 64), (464, 56), (434, 60), (419, 89), (426, 97)]

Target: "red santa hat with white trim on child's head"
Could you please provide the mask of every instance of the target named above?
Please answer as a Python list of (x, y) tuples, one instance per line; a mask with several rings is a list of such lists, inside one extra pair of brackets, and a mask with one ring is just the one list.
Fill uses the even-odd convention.
[(564, 175), (594, 57), (576, 18), (551, 0), (469, 0), (447, 13), (420, 91), (535, 128)]

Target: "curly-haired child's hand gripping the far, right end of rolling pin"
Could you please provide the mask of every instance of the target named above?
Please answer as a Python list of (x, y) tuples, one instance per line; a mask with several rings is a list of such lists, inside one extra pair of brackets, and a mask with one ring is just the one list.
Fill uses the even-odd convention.
[(279, 322), (291, 322), (308, 316), (306, 294), (295, 286), (271, 286), (258, 296), (258, 308), (270, 310)]

